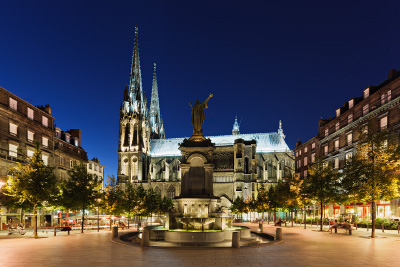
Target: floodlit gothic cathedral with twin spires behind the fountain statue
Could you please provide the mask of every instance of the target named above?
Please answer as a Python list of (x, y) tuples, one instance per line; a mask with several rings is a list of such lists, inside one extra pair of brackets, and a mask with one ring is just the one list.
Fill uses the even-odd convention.
[[(147, 110), (138, 51), (136, 29), (130, 85), (120, 109), (118, 182), (122, 186), (127, 181), (142, 183), (162, 196), (174, 198), (185, 191), (185, 151), (190, 149), (179, 150), (184, 138), (165, 139), (155, 68)], [(261, 184), (268, 187), (294, 173), (294, 156), (286, 145), (281, 123), (277, 132), (240, 134), (235, 119), (232, 134), (205, 137), (214, 147), (203, 155), (213, 168), (213, 192), (225, 207), (237, 196), (255, 198)]]

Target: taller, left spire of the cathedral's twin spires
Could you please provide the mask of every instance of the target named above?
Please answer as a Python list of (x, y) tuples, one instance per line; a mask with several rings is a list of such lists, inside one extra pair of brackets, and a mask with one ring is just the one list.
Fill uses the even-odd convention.
[(142, 74), (139, 60), (138, 27), (135, 27), (135, 44), (132, 55), (132, 68), (129, 79), (129, 97), (133, 102), (133, 110), (140, 113), (143, 110)]

